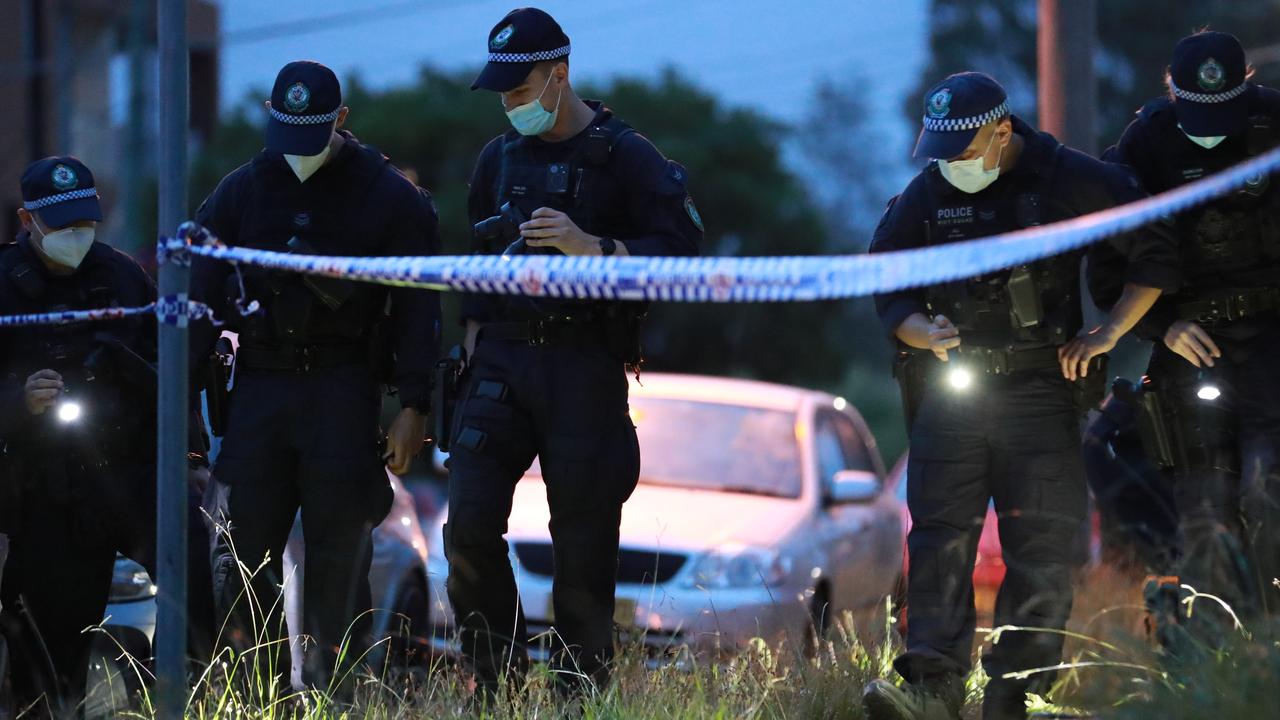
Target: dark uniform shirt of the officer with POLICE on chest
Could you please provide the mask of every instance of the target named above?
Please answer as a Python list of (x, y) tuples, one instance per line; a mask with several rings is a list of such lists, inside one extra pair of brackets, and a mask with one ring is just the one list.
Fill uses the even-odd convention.
[[(1018, 164), (1011, 170), (1001, 170), (987, 188), (965, 193), (947, 183), (937, 164), (931, 163), (901, 195), (890, 200), (872, 238), (870, 252), (925, 247), (974, 240), (1028, 224), (1050, 224), (1146, 196), (1125, 168), (1066, 147), (1016, 115), (1011, 122), (1014, 132), (1024, 141)], [(1018, 217), (1027, 211), (1019, 208), (1019, 196), (1029, 192), (1039, 195), (1039, 208), (1032, 222)], [(1167, 228), (1148, 227), (1108, 242), (1128, 259), (1125, 282), (1164, 291), (1178, 287), (1178, 256)], [(1075, 263), (1073, 266), (1079, 265)], [(1064, 323), (1062, 342), (1074, 337), (1082, 325), (1074, 292), (1076, 282), (1066, 281), (1071, 290), (1066, 296), (1043, 299), (1046, 319)], [(915, 313), (928, 315), (925, 297), (924, 288), (877, 295), (876, 309), (884, 331), (892, 337), (908, 316)]]

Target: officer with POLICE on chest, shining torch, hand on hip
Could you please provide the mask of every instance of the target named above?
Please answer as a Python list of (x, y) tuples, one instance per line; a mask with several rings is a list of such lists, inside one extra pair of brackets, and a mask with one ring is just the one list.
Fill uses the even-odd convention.
[[(1004, 88), (982, 73), (951, 76), (925, 95), (915, 152), (936, 161), (890, 202), (873, 252), (1052, 223), (1142, 196), (1123, 168), (1011, 115)], [(1071, 541), (1085, 512), (1075, 380), (1102, 379), (1094, 357), (1178, 277), (1161, 229), (1116, 243), (1130, 259), (1123, 297), (1105, 325), (1079, 337), (1079, 254), (876, 297), (900, 348), (923, 352), (904, 368), (922, 384), (908, 466), (906, 652), (895, 662), (908, 685), (872, 682), (870, 717), (959, 717), (974, 552), (992, 500), (1007, 566), (996, 625), (1066, 623)], [(1051, 632), (1006, 633), (983, 660), (992, 678), (983, 716), (1023, 717), (1033, 683), (1006, 674), (1053, 665), (1061, 647)], [(1037, 675), (1034, 687), (1046, 682)]]

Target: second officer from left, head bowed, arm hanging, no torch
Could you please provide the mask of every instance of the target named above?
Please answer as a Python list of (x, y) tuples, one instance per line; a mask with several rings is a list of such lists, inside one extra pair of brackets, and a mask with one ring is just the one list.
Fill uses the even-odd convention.
[[(275, 78), (266, 111), (266, 149), (223, 178), (197, 223), (227, 245), (282, 252), (436, 252), (430, 196), (340, 129), (348, 108), (333, 70), (289, 63)], [(439, 297), (252, 268), (243, 269), (243, 282), (241, 297), (227, 264), (197, 260), (192, 268), (192, 295), (239, 332), (210, 493), (220, 530), (229, 528), (218, 533), (215, 593), (223, 612), (232, 614), (233, 641), (259, 642), (253, 628), (274, 634), (280, 556), (301, 509), (307, 550), (302, 629), (319, 650), (307, 653), (303, 680), (323, 687), (348, 630), (348, 659), (358, 659), (367, 641), (370, 533), (392, 502), (383, 459), (403, 473), (422, 447), (439, 352)], [(261, 302), (262, 311), (241, 319), (237, 302), (246, 300)], [(192, 334), (193, 355), (207, 357), (215, 331), (201, 324)], [(383, 384), (397, 391), (402, 406), (384, 457)], [(253, 578), (252, 602), (242, 597), (237, 559), (250, 569), (268, 560)]]

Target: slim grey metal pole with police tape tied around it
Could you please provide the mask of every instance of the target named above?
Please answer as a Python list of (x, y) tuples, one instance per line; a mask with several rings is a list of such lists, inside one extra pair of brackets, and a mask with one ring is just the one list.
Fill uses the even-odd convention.
[[(160, 232), (187, 220), (187, 128), (191, 114), (187, 0), (159, 0)], [(187, 293), (186, 258), (160, 263), (160, 389), (156, 443), (156, 717), (187, 705)], [(170, 314), (169, 316), (165, 316)]]

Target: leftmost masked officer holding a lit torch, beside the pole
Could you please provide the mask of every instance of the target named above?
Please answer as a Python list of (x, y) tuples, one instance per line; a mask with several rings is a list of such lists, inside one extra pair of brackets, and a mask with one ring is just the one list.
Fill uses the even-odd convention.
[[(155, 301), (142, 268), (95, 241), (102, 210), (83, 163), (32, 164), (22, 197), (23, 231), (0, 246), (0, 315)], [(0, 532), (10, 538), (0, 597), (6, 615), (22, 615), (5, 621), (23, 629), (10, 648), (14, 694), (19, 707), (44, 702), (37, 715), (69, 711), (84, 694), (92, 639), (84, 628), (102, 620), (115, 553), (155, 577), (155, 359), (154, 315), (0, 328)], [(189, 514), (200, 528), (196, 502)], [(210, 642), (212, 593), (209, 548), (196, 534), (188, 623), (200, 653)], [(54, 687), (38, 674), (49, 661)]]

